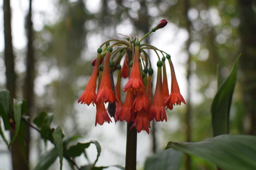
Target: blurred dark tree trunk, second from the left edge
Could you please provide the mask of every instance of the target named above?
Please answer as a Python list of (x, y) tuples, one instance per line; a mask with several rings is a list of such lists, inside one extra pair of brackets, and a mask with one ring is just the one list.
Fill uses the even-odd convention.
[[(29, 13), (26, 18), (27, 29), (27, 71), (24, 84), (24, 99), (27, 100), (28, 117), (31, 117), (31, 107), (34, 105), (34, 49), (33, 49), (33, 23), (32, 23), (32, 0), (29, 1)], [(29, 118), (30, 121), (30, 118)], [(29, 147), (30, 147), (30, 128), (26, 126), (25, 130), (25, 143), (26, 143), (26, 159), (29, 161)]]

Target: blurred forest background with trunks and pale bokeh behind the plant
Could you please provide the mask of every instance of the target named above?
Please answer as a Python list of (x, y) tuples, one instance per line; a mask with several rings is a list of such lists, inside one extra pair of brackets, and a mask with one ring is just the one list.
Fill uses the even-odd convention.
[[(80, 142), (98, 140), (102, 153), (96, 165), (124, 166), (126, 124), (94, 127), (95, 107), (77, 100), (101, 43), (122, 38), (118, 33), (142, 37), (164, 18), (168, 25), (145, 41), (172, 56), (187, 104), (167, 110), (168, 122), (156, 123), (150, 135), (138, 134), (138, 169), (168, 141), (212, 137), (210, 105), (217, 91), (216, 74), (224, 80), (240, 53), (230, 133), (256, 135), (255, 5), (255, 0), (4, 0), (0, 2), (0, 88), (9, 89), (12, 98), (28, 101), (31, 120), (46, 111), (54, 114), (52, 126), (60, 125), (66, 138), (76, 134), (83, 136)], [(152, 53), (151, 58), (156, 56)], [(12, 132), (5, 135), (10, 139)], [(27, 130), (26, 142), (31, 168), (53, 147), (45, 146), (34, 130)], [(28, 169), (19, 150), (14, 144), (9, 151), (0, 139), (1, 170)], [(90, 147), (87, 155), (94, 161), (96, 148)], [(77, 163), (88, 161), (80, 156)], [(50, 169), (58, 168), (56, 160)], [(70, 169), (67, 161), (63, 169)], [(216, 167), (184, 156), (180, 169)]]

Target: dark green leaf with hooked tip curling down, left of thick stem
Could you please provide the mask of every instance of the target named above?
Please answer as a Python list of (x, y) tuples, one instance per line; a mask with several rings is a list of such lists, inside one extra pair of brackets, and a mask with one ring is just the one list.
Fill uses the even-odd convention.
[(65, 154), (74, 158), (77, 156), (80, 156), (82, 153), (84, 153), (84, 149), (88, 148), (90, 146), (91, 143), (94, 143), (96, 145), (96, 149), (97, 149), (97, 158), (94, 161), (92, 167), (95, 166), (95, 164), (97, 163), (99, 156), (100, 156), (100, 152), (101, 152), (101, 147), (100, 144), (96, 141), (96, 140), (92, 140), (88, 143), (80, 143), (78, 142), (76, 145), (72, 145), (66, 152)]

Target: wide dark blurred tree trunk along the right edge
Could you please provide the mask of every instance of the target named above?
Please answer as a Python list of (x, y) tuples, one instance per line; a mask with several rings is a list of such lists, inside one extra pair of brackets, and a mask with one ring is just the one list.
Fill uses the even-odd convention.
[(238, 0), (241, 25), (239, 28), (243, 71), (243, 97), (245, 114), (249, 116), (248, 134), (256, 135), (256, 18), (252, 0)]

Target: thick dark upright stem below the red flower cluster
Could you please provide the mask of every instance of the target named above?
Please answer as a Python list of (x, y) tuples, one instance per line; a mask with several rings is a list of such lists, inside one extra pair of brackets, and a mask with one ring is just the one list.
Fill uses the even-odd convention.
[(136, 170), (137, 130), (130, 130), (132, 125), (132, 122), (127, 124), (125, 170)]

